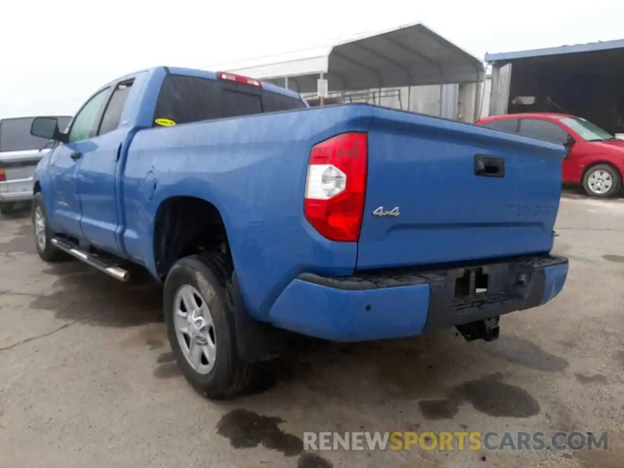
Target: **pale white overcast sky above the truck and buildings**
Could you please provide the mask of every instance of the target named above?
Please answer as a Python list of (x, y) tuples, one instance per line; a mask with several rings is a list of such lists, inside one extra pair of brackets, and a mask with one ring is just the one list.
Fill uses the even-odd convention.
[(483, 59), (624, 39), (623, 19), (622, 0), (19, 0), (0, 15), (0, 118), (73, 115), (147, 67), (207, 68), (414, 22)]

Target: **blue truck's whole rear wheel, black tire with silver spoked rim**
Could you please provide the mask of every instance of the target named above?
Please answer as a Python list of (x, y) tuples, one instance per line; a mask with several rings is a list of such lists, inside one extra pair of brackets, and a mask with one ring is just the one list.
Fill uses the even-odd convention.
[(262, 365), (245, 363), (238, 356), (227, 273), (220, 266), (209, 255), (178, 260), (165, 280), (163, 298), (167, 334), (178, 366), (198, 392), (214, 400), (250, 390)]

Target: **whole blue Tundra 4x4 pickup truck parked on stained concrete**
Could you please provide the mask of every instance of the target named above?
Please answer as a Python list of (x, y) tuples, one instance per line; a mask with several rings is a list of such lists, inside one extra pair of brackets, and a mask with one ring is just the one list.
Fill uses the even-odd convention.
[(41, 258), (162, 282), (177, 363), (212, 399), (250, 389), (291, 332), (490, 341), (565, 283), (557, 145), (169, 67), (31, 132), (57, 142), (34, 177)]

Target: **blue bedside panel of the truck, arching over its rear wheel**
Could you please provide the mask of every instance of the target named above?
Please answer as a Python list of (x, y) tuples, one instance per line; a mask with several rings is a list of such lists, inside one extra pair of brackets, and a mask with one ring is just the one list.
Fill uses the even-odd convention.
[[(155, 271), (155, 216), (168, 197), (207, 200), (222, 215), (241, 295), (251, 316), (271, 305), (297, 275), (349, 275), (355, 243), (333, 243), (303, 216), (310, 149), (366, 131), (373, 108), (344, 105), (212, 120), (137, 132), (124, 172), (129, 255)], [(175, 155), (175, 157), (173, 157)]]

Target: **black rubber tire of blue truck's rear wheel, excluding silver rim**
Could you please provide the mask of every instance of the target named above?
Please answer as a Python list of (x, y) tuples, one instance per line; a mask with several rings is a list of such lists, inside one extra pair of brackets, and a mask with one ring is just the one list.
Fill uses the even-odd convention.
[[(167, 335), (182, 374), (198, 392), (212, 400), (232, 399), (258, 385), (264, 363), (245, 363), (238, 356), (232, 301), (228, 296), (230, 275), (222, 255), (191, 255), (178, 260), (165, 280), (163, 306)], [(191, 285), (207, 301), (213, 319), (217, 353), (207, 374), (195, 371), (185, 358), (173, 325), (175, 295), (183, 285)]]

